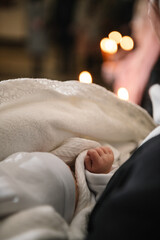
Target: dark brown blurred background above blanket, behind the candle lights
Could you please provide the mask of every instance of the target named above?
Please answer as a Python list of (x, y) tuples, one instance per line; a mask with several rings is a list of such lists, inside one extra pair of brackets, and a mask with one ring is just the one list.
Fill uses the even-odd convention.
[[(110, 69), (104, 66), (107, 59), (102, 56), (100, 41), (116, 30), (132, 35), (136, 49), (131, 23), (137, 2), (0, 0), (0, 80), (73, 80), (85, 70), (91, 73), (94, 83), (114, 91), (116, 78), (113, 74), (110, 79)], [(146, 100), (143, 102), (145, 105)]]

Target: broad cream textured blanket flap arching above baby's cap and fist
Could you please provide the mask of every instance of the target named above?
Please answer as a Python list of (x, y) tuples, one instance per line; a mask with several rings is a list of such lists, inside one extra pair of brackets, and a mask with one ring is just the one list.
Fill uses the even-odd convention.
[(50, 152), (70, 137), (139, 142), (155, 127), (147, 112), (95, 84), (46, 79), (0, 82), (0, 160)]

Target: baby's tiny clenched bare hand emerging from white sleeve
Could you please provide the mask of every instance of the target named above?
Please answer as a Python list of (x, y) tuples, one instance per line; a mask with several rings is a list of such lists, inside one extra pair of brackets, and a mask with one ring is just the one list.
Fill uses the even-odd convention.
[(85, 168), (92, 173), (109, 173), (114, 155), (109, 147), (90, 149), (84, 159)]

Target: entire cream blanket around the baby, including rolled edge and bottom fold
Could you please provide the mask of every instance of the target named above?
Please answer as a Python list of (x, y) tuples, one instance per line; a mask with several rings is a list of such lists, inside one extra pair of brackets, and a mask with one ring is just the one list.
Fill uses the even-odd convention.
[(80, 195), (70, 226), (53, 208), (42, 206), (1, 221), (0, 239), (83, 239), (94, 205), (84, 175), (85, 150), (111, 144), (120, 151), (120, 165), (155, 126), (145, 110), (95, 84), (1, 82), (0, 160), (15, 152), (42, 151), (53, 152), (70, 165), (76, 161)]

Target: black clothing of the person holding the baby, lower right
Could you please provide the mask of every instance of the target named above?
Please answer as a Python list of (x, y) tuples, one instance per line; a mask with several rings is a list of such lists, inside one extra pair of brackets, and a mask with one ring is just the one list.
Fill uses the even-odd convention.
[(97, 202), (87, 240), (160, 239), (160, 135), (138, 148)]

